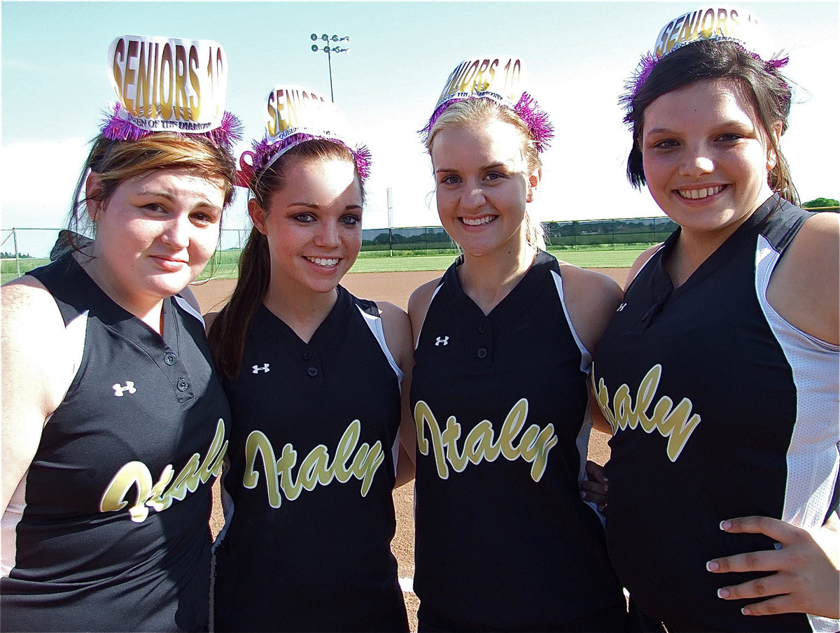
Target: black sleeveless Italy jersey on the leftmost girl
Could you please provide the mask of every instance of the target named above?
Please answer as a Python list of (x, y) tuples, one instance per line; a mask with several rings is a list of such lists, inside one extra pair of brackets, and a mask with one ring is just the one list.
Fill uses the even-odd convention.
[(202, 630), (229, 411), (202, 318), (167, 299), (160, 337), (70, 255), (30, 275), (84, 352), (3, 515), (0, 627)]

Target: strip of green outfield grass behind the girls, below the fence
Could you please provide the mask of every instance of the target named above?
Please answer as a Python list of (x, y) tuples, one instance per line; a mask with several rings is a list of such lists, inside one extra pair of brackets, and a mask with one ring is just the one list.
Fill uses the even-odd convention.
[[(593, 248), (577, 250), (570, 248), (549, 248), (549, 252), (558, 259), (582, 268), (629, 268), (647, 245), (626, 250)], [(445, 270), (452, 264), (457, 254), (455, 251), (445, 254), (400, 253), (394, 257), (380, 252), (362, 253), (356, 260), (351, 273), (386, 273), (400, 270)], [(228, 279), (237, 276), (238, 250), (220, 251), (213, 256), (213, 264), (207, 266), (199, 279)], [(20, 274), (46, 264), (46, 259), (18, 260)], [(14, 259), (3, 259), (3, 283), (18, 277), (18, 263)]]

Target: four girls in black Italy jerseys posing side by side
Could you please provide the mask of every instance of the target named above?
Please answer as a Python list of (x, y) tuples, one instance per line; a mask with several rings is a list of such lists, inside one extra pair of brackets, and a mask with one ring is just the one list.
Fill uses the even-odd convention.
[[(782, 65), (720, 33), (644, 60), (627, 172), (680, 227), (623, 293), (528, 215), (547, 115), (459, 66), (423, 140), (462, 254), (408, 314), (340, 285), (370, 156), (317, 93), (239, 176), (228, 115), (115, 112), (93, 239), (3, 287), (3, 630), (407, 630), (415, 472), (420, 630), (837, 630), (840, 223), (793, 204)], [(206, 340), (179, 293), (238, 177), (254, 228)]]

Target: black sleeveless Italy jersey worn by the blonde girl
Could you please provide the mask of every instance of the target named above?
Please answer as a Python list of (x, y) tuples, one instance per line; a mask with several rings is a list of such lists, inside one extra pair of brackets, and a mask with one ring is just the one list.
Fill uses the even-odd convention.
[(580, 499), (590, 353), (557, 259), (540, 251), (485, 316), (457, 260), (428, 307), (412, 374), (414, 589), (436, 630), (554, 630), (624, 598)]

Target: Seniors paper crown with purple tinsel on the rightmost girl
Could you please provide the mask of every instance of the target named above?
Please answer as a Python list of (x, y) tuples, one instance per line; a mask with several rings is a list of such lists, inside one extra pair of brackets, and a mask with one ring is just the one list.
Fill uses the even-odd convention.
[(683, 13), (659, 30), (654, 48), (642, 55), (633, 77), (626, 83), (627, 92), (619, 101), (630, 107), (633, 98), (664, 56), (704, 39), (735, 42), (768, 67), (779, 69), (788, 63), (787, 57), (769, 55), (764, 30), (753, 13), (732, 6), (700, 8)]

